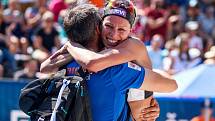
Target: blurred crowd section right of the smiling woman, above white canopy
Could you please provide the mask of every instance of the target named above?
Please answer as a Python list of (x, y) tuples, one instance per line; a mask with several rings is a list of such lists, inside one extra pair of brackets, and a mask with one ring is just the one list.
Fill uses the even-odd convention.
[(215, 62), (214, 0), (136, 0), (134, 36), (147, 45), (153, 68), (169, 74)]

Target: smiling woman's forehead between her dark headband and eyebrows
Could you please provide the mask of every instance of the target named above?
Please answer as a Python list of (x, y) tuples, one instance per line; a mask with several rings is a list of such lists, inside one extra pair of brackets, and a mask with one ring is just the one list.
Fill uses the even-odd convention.
[(106, 16), (103, 20), (103, 23), (110, 23), (113, 25), (126, 26), (126, 27), (130, 26), (128, 20), (126, 20), (122, 17), (116, 16), (116, 15)]

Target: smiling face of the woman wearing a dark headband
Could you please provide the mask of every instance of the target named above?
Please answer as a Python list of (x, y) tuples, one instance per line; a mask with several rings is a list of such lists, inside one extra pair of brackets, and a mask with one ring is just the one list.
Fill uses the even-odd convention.
[(131, 25), (128, 20), (115, 16), (106, 16), (102, 24), (102, 39), (106, 48), (117, 46), (128, 38)]

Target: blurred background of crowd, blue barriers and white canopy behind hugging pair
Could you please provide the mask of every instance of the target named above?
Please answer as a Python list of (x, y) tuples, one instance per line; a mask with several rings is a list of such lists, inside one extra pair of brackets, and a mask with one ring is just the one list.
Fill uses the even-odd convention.
[[(28, 120), (19, 111), (20, 90), (46, 76), (39, 72), (41, 62), (67, 41), (65, 9), (85, 1), (0, 1), (0, 121)], [(101, 11), (106, 2), (89, 1)], [(157, 121), (215, 121), (215, 0), (133, 2), (137, 19), (131, 35), (147, 45), (153, 68), (172, 75), (179, 86), (155, 94)]]

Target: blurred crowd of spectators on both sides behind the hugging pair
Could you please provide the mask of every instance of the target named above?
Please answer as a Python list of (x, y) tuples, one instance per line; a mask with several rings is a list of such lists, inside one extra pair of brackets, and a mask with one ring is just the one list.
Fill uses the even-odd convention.
[[(67, 36), (65, 9), (87, 0), (2, 0), (0, 77), (34, 79), (39, 66)], [(169, 74), (215, 64), (215, 0), (133, 0), (132, 36), (147, 45), (154, 69)], [(102, 7), (105, 0), (90, 0)]]

